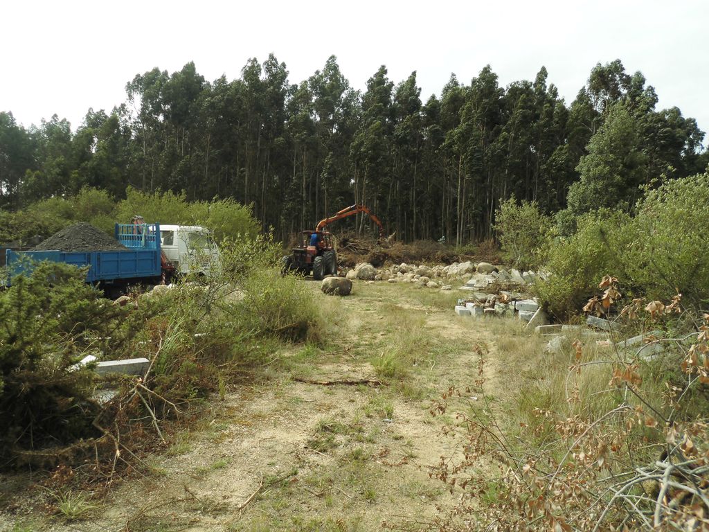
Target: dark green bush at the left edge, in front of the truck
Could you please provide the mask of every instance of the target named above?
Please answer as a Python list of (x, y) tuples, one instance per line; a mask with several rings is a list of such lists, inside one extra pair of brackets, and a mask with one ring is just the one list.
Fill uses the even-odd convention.
[(84, 283), (86, 272), (44, 262), (0, 294), (0, 457), (91, 433), (92, 372), (123, 310)]

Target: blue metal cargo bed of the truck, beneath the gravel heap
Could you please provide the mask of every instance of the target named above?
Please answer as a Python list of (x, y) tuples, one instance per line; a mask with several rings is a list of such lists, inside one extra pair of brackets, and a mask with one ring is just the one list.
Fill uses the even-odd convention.
[[(43, 260), (88, 267), (86, 282), (114, 299), (129, 286), (160, 284), (172, 273), (160, 250), (159, 223), (116, 223), (115, 238), (125, 250), (110, 251), (13, 251), (6, 250), (7, 285), (20, 273), (31, 272)], [(119, 246), (120, 247), (120, 246)]]

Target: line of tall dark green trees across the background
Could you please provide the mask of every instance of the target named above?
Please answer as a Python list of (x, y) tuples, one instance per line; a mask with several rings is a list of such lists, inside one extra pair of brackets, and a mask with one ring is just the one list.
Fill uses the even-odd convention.
[(0, 208), (84, 187), (122, 199), (130, 185), (252, 205), (281, 238), (362, 203), (402, 240), (464, 243), (489, 237), (512, 196), (570, 227), (709, 162), (696, 121), (657, 110), (654, 88), (620, 60), (593, 67), (570, 105), (545, 67), (507, 87), (489, 66), (469, 84), (453, 74), (426, 101), (416, 72), (395, 84), (384, 66), (356, 91), (334, 56), (299, 84), (288, 75), (274, 55), (232, 81), (208, 82), (192, 62), (155, 68), (75, 132), (56, 115), (24, 128), (0, 113)]

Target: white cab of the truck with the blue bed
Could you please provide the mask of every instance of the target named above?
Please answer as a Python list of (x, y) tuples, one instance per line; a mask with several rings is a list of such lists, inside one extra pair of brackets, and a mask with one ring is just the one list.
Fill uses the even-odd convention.
[(207, 273), (218, 264), (219, 250), (211, 233), (200, 226), (161, 223), (160, 247), (180, 275)]

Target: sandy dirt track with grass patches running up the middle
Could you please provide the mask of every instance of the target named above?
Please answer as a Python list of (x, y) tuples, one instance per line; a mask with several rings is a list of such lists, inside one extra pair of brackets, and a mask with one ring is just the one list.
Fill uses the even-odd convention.
[(494, 350), (493, 333), (454, 316), (456, 292), (356, 282), (340, 299), (318, 285), (315, 297), (333, 319), (330, 340), (281, 353), (259, 384), (228, 387), (198, 426), (149, 458), (151, 474), (121, 483), (91, 519), (35, 526), (418, 530), (437, 506), (450, 508), (454, 497), (429, 472), (455, 452), (440, 435), (454, 418), (429, 409), (452, 384), (474, 381), (474, 345)]

